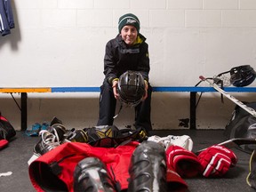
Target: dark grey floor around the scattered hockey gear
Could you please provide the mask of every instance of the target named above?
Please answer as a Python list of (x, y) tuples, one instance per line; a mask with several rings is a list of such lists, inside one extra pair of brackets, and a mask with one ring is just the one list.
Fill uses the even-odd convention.
[[(152, 134), (159, 136), (172, 135), (189, 135), (194, 141), (194, 150), (207, 148), (212, 144), (224, 141), (223, 131), (221, 130), (180, 130), (180, 131), (157, 131)], [(38, 137), (28, 137), (24, 132), (17, 132), (16, 137), (9, 143), (7, 148), (0, 150), (0, 173), (12, 172), (10, 176), (0, 177), (1, 192), (30, 192), (36, 191), (28, 178), (28, 159), (32, 155), (32, 148), (39, 140)], [(221, 179), (205, 179), (196, 177), (186, 179), (188, 191), (191, 192), (221, 192), (234, 191), (246, 192), (254, 191), (246, 183), (246, 176), (249, 172), (250, 155), (233, 149), (238, 157), (236, 167), (231, 168), (229, 172)]]

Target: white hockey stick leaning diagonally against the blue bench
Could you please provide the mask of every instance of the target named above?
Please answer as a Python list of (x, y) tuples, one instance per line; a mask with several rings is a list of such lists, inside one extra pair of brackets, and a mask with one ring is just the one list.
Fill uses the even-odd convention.
[(248, 113), (250, 113), (252, 116), (256, 117), (256, 111), (253, 108), (249, 108), (248, 106), (246, 106), (243, 102), (241, 102), (240, 100), (236, 100), (235, 97), (233, 97), (232, 95), (228, 94), (228, 92), (225, 92), (224, 90), (222, 90), (217, 84), (212, 83), (211, 81), (209, 81), (208, 79), (206, 79), (204, 76), (199, 76), (199, 78), (202, 81), (205, 81), (206, 83), (210, 84), (215, 90), (217, 90), (218, 92), (220, 92), (221, 94), (225, 95), (229, 100), (232, 100), (233, 102), (236, 103), (236, 105), (238, 105), (240, 108), (243, 108), (245, 111), (247, 111)]

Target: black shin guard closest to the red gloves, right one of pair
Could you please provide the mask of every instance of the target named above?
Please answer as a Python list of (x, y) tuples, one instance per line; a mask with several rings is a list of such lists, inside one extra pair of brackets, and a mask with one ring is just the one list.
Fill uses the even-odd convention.
[(144, 141), (132, 154), (128, 192), (165, 192), (166, 161), (164, 148), (156, 142)]

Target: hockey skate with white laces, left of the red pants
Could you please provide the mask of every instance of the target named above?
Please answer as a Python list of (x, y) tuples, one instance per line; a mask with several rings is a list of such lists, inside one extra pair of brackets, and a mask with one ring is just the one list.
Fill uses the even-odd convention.
[(43, 156), (48, 151), (60, 146), (65, 139), (66, 128), (62, 124), (53, 124), (47, 130), (39, 132), (41, 140), (33, 148), (34, 155), (28, 160), (28, 165), (31, 164), (39, 156)]

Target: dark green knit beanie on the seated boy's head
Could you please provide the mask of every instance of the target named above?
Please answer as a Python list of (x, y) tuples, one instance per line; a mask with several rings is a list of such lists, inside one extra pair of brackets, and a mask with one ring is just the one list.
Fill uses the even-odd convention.
[(132, 13), (127, 13), (119, 18), (119, 21), (118, 21), (119, 33), (121, 33), (122, 28), (124, 28), (124, 26), (126, 25), (132, 25), (137, 29), (138, 33), (140, 32), (140, 20), (136, 15)]

